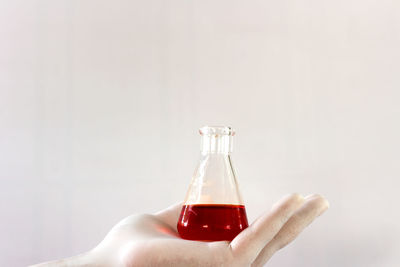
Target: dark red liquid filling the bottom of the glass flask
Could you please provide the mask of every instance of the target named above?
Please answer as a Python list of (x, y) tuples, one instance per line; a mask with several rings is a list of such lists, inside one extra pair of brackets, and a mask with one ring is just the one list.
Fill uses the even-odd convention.
[(183, 239), (199, 241), (231, 241), (248, 227), (243, 205), (184, 205), (178, 220)]

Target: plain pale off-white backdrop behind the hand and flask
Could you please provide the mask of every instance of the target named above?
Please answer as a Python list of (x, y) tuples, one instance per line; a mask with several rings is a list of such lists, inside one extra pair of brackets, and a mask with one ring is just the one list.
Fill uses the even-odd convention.
[(0, 1), (0, 265), (71, 256), (183, 199), (237, 130), (250, 220), (330, 210), (268, 266), (399, 266), (397, 1)]

